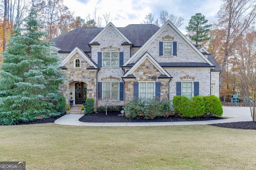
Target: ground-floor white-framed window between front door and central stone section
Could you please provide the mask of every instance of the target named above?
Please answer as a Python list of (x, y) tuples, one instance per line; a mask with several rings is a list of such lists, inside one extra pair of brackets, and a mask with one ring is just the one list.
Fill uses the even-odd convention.
[(103, 98), (119, 100), (119, 82), (103, 82)]

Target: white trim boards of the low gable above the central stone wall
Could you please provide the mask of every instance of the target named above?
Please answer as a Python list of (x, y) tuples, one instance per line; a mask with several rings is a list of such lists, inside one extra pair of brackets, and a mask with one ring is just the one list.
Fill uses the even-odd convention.
[(152, 63), (161, 73), (162, 75), (166, 75), (168, 78), (172, 78), (172, 76), (170, 76), (170, 74), (164, 70), (164, 68), (162, 68), (160, 66), (160, 64), (157, 63), (157, 61), (148, 53), (144, 53), (144, 55), (142, 55), (142, 57), (140, 57), (140, 59), (138, 59), (138, 61), (136, 61), (136, 63), (132, 66), (132, 68), (130, 68), (130, 70), (128, 70), (123, 77), (130, 77), (131, 75), (133, 75), (132, 73), (138, 68), (138, 66), (140, 66), (146, 59), (148, 59), (150, 61), (150, 63)]

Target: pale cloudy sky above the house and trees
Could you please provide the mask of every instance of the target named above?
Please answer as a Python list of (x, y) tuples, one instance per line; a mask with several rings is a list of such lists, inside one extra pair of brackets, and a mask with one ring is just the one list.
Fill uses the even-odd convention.
[(110, 13), (110, 21), (116, 27), (125, 27), (129, 24), (141, 24), (149, 13), (154, 14), (154, 20), (159, 18), (160, 11), (167, 10), (169, 14), (182, 16), (184, 24), (178, 28), (186, 34), (185, 26), (191, 16), (201, 13), (208, 23), (217, 21), (216, 15), (220, 9), (222, 0), (64, 0), (74, 16), (80, 16), (86, 20), (86, 16), (93, 16), (95, 8), (96, 16)]

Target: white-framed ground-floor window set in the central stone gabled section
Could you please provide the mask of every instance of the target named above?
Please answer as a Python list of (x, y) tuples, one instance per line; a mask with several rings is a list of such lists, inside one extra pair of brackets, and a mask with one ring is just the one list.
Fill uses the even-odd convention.
[(154, 82), (140, 82), (140, 97), (153, 98), (154, 97)]

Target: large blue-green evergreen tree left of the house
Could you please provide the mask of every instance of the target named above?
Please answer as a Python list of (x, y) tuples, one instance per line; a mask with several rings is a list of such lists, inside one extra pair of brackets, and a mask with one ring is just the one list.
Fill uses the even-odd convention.
[[(64, 82), (58, 69), (51, 67), (57, 56), (47, 55), (50, 42), (44, 41), (33, 7), (24, 35), (9, 39), (0, 71), (0, 124), (35, 121), (60, 115), (65, 106), (59, 84)], [(63, 105), (64, 103), (64, 105)]]

